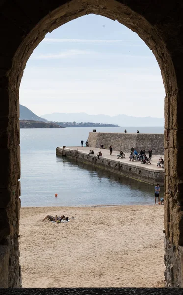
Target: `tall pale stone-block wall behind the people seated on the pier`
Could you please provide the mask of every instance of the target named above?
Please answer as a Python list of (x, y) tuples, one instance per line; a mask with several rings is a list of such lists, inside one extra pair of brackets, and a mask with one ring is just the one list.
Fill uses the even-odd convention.
[(130, 152), (131, 147), (135, 147), (138, 152), (151, 148), (153, 154), (164, 154), (164, 134), (90, 132), (88, 142), (90, 147), (95, 148), (100, 148), (101, 144), (106, 149), (112, 145), (114, 150), (123, 152)]

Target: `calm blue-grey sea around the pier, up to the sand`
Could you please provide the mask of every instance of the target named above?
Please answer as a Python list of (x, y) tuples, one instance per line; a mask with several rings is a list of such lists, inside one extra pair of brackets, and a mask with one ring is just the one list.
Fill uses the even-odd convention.
[[(56, 156), (57, 146), (79, 146), (92, 128), (21, 129), (21, 205), (81, 206), (151, 204), (154, 187)], [(96, 128), (123, 132), (124, 127)], [(163, 133), (163, 127), (126, 127), (128, 132)], [(58, 197), (55, 198), (55, 193)], [(161, 188), (163, 194), (163, 188)]]

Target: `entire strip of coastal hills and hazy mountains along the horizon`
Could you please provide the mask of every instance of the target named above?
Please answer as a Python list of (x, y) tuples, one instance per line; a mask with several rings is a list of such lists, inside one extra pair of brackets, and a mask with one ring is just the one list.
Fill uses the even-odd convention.
[[(42, 122), (42, 123), (38, 123)], [(20, 128), (68, 128), (68, 127), (119, 127), (164, 126), (163, 118), (133, 117), (127, 115), (88, 115), (86, 113), (53, 113), (37, 116), (20, 105)]]

